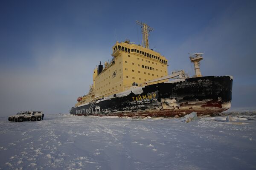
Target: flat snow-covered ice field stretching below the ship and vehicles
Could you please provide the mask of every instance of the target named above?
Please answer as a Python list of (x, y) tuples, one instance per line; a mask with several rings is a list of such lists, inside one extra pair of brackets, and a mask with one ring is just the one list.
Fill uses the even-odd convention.
[(256, 116), (233, 114), (125, 119), (47, 114), (43, 121), (0, 117), (1, 170), (256, 169)]

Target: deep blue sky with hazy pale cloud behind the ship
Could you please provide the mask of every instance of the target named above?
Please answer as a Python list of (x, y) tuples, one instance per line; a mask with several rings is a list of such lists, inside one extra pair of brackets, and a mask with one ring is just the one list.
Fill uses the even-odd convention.
[(93, 68), (125, 39), (141, 43), (136, 20), (154, 28), (150, 48), (169, 72), (194, 74), (188, 53), (204, 52), (203, 75), (232, 75), (232, 109), (256, 108), (256, 1), (0, 2), (1, 114), (68, 113)]

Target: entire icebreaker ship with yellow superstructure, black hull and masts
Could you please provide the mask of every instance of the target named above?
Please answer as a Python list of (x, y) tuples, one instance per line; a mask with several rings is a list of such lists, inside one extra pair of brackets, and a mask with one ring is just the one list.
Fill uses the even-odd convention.
[(100, 62), (94, 69), (88, 94), (77, 99), (70, 114), (174, 116), (192, 111), (220, 113), (230, 108), (232, 77), (203, 77), (199, 67), (203, 53), (190, 56), (195, 66), (192, 78), (183, 70), (168, 74), (166, 57), (149, 48), (148, 35), (153, 28), (137, 23), (142, 26), (142, 44), (116, 41), (111, 62)]

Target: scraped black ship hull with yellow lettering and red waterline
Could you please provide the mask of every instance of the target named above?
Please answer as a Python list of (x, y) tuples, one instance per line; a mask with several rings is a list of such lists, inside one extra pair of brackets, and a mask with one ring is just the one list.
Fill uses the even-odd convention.
[(184, 116), (215, 114), (231, 107), (233, 78), (195, 77), (130, 89), (71, 108), (73, 115)]

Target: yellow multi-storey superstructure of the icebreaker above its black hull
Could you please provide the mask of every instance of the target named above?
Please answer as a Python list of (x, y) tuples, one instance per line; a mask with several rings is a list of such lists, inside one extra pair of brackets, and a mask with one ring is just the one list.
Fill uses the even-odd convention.
[(160, 53), (129, 41), (116, 42), (112, 50), (113, 59), (104, 63), (102, 71), (97, 67), (94, 69), (93, 85), (76, 106), (126, 91), (133, 85), (167, 81), (147, 83), (168, 75), (167, 59)]

